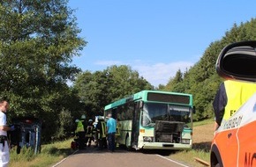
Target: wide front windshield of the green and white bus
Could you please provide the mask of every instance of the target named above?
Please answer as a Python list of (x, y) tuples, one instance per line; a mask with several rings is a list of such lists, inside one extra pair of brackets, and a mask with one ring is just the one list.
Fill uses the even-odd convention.
[(191, 110), (188, 106), (160, 103), (145, 103), (141, 117), (143, 127), (154, 127), (155, 120), (191, 122)]

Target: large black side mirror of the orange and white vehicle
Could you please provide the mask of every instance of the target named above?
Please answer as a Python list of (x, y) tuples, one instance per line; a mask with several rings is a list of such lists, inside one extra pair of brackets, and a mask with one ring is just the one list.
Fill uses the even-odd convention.
[(226, 79), (256, 81), (256, 40), (236, 42), (224, 47), (216, 71)]

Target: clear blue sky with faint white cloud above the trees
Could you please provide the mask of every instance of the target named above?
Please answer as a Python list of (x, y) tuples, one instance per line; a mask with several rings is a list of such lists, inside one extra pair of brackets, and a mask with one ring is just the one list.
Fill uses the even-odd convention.
[(167, 84), (200, 60), (211, 42), (256, 17), (256, 1), (70, 0), (87, 47), (73, 59), (94, 72), (129, 65), (150, 84)]

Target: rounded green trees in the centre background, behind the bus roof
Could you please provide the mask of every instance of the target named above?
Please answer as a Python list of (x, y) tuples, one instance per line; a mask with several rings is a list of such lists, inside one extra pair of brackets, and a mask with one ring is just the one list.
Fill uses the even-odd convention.
[(87, 116), (93, 118), (102, 115), (104, 106), (119, 98), (132, 95), (142, 90), (152, 90), (153, 86), (137, 71), (126, 65), (111, 66), (103, 71), (81, 73), (74, 89), (87, 108)]

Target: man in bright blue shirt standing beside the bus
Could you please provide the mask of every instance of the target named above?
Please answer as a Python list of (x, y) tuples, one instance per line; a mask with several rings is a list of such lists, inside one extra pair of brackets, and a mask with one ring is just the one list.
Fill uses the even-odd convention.
[(115, 134), (117, 131), (117, 121), (112, 118), (112, 114), (108, 114), (109, 120), (107, 121), (107, 133), (108, 133), (108, 142), (109, 142), (109, 151), (115, 151)]

